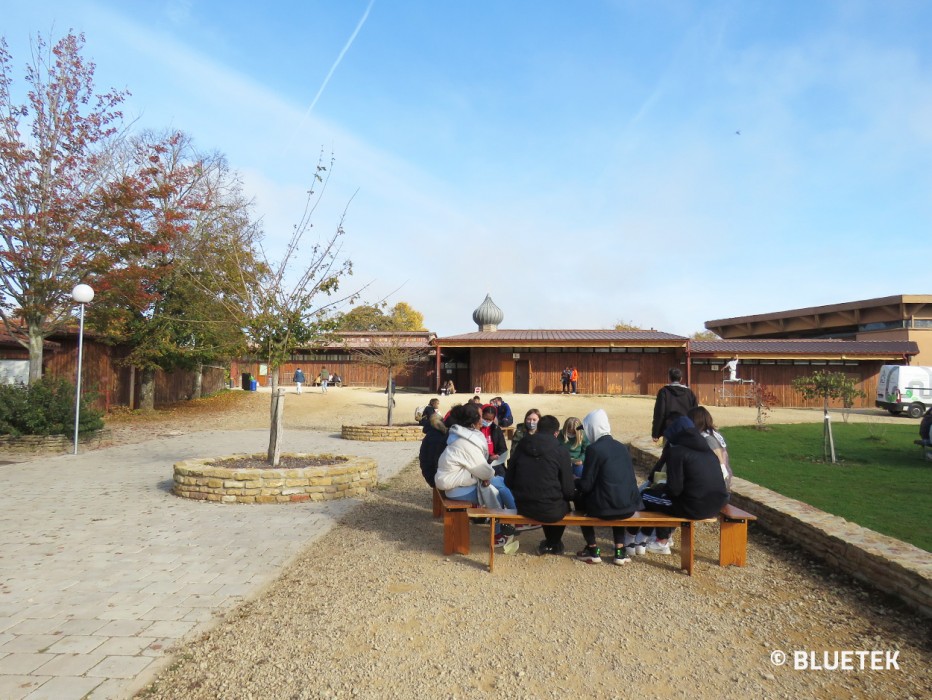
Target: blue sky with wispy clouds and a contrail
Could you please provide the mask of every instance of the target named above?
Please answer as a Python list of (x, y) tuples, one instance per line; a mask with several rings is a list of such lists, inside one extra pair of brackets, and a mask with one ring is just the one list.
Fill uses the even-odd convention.
[(688, 335), (930, 291), (932, 3), (4, 5), (17, 79), (84, 32), (140, 127), (227, 155), (272, 250), (332, 151), (346, 288), (440, 335), (486, 293), (504, 328)]

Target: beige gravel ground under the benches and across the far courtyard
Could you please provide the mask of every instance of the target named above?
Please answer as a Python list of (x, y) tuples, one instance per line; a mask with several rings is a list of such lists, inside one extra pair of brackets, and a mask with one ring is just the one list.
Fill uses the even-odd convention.
[[(323, 403), (337, 391), (295, 397), (286, 425), (333, 430), (370, 415), (373, 422), (384, 419), (384, 396), (341, 391), (340, 406)], [(619, 435), (643, 435), (645, 417), (649, 425), (649, 400), (543, 397), (562, 398), (551, 407), (533, 398), (561, 418), (584, 415), (590, 405), (606, 407)], [(423, 402), (400, 399), (405, 418)], [(258, 416), (232, 410), (205, 417), (198, 427), (224, 427), (209, 425), (214, 420), (261, 424), (267, 400), (248, 397), (247, 404), (262, 409)], [(302, 413), (302, 405), (313, 408)], [(732, 411), (744, 412), (733, 422), (753, 420), (748, 409), (714, 414), (729, 424)], [(793, 415), (821, 419), (814, 412)], [(180, 420), (191, 424), (190, 416)], [(170, 423), (148, 427), (156, 434), (172, 429)], [(129, 436), (143, 433), (137, 426)], [(123, 435), (115, 428), (115, 439), (128, 439)], [(412, 457), (416, 450), (412, 443)], [(599, 534), (607, 546), (609, 531)], [(586, 565), (569, 554), (538, 557), (541, 536), (534, 531), (521, 536), (517, 554), (496, 557), (489, 574), (485, 536), (474, 527), (470, 556), (440, 553), (442, 525), (431, 518), (430, 492), (412, 462), (340, 527), (310, 543), (255, 599), (178, 648), (175, 664), (140, 696), (827, 700), (932, 693), (927, 620), (756, 528), (748, 566), (722, 569), (717, 528), (699, 526), (691, 578), (675, 569), (676, 551), (623, 567)], [(564, 541), (568, 553), (582, 546), (575, 530)], [(794, 670), (797, 650), (815, 652), (820, 663), (824, 654), (831, 662), (842, 650), (897, 652), (899, 668), (859, 670), (855, 656), (858, 670)], [(776, 651), (790, 662), (773, 664)]]

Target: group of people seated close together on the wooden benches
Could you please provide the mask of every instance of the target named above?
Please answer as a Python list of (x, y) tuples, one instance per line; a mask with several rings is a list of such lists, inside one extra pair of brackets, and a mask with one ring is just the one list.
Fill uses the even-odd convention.
[[(639, 486), (628, 448), (612, 437), (604, 410), (581, 421), (571, 416), (561, 425), (556, 416), (532, 408), (515, 427), (509, 450), (496, 401), (501, 397), (485, 405), (471, 400), (441, 416), (440, 401), (433, 399), (422, 419), (421, 472), (448, 498), (516, 509), (544, 523), (537, 548), (541, 555), (564, 553), (565, 526), (548, 523), (573, 510), (611, 520), (640, 510), (702, 520), (717, 515), (728, 501), (731, 470), (725, 440), (702, 406), (668, 417), (663, 452)], [(513, 551), (516, 530), (537, 527), (497, 526), (496, 546)], [(586, 546), (576, 558), (601, 562), (595, 528), (581, 530)], [(626, 564), (647, 552), (670, 554), (671, 533), (669, 528), (613, 527), (611, 562)]]

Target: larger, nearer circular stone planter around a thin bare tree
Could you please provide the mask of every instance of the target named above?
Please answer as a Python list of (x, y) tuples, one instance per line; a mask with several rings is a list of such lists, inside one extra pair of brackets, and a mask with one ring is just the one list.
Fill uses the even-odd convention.
[(334, 462), (298, 469), (220, 467), (216, 463), (264, 454), (188, 459), (175, 464), (172, 493), (218, 503), (302, 503), (360, 496), (378, 484), (377, 465), (368, 457), (328, 454), (282, 454)]

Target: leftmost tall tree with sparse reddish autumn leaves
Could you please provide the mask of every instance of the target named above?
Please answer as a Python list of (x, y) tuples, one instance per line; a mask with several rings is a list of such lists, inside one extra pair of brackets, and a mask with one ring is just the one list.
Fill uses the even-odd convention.
[(70, 317), (74, 286), (125, 273), (127, 248), (150, 244), (119, 221), (139, 183), (111, 181), (106, 167), (126, 93), (94, 93), (83, 47), (80, 34), (51, 48), (38, 37), (19, 104), (0, 39), (0, 318), (29, 350), (30, 383), (42, 376), (44, 339)]

